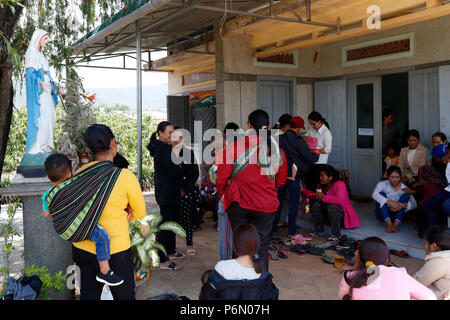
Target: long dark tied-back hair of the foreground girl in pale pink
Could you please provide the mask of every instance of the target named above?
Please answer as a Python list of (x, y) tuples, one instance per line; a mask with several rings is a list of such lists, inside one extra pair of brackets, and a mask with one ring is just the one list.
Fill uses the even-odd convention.
[(353, 289), (366, 286), (369, 277), (375, 275), (375, 268), (366, 266), (367, 262), (370, 261), (375, 266), (386, 265), (389, 261), (389, 248), (386, 242), (378, 237), (364, 239), (359, 246), (359, 260), (361, 260), (361, 269), (344, 272), (344, 279), (350, 286), (350, 290), (342, 300), (351, 300)]

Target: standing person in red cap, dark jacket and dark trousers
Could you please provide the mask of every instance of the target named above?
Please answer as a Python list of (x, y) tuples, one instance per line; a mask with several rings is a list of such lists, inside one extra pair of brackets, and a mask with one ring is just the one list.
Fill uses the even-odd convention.
[(286, 192), (289, 193), (289, 218), (288, 232), (289, 236), (294, 237), (297, 233), (297, 213), (300, 202), (301, 179), (306, 177), (312, 168), (312, 165), (319, 160), (319, 155), (314, 154), (308, 148), (305, 140), (299, 135), (300, 130), (305, 129), (305, 121), (300, 116), (292, 117), (289, 122), (289, 129), (279, 136), (280, 148), (286, 154), (288, 167), (288, 176), (292, 175), (292, 167), (295, 164), (297, 173), (294, 180), (287, 180), (286, 184), (278, 189), (278, 200), (280, 205), (273, 222), (272, 232), (278, 232), (278, 222), (283, 209), (283, 199)]

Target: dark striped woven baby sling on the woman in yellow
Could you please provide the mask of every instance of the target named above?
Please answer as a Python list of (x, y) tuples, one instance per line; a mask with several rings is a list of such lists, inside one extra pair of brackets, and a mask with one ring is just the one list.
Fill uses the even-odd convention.
[(71, 242), (89, 240), (121, 169), (98, 162), (54, 187), (47, 195), (56, 233)]

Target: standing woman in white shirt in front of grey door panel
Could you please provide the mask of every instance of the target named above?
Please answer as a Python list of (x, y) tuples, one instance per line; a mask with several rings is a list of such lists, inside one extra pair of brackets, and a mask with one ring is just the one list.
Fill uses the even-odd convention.
[(327, 164), (328, 155), (331, 153), (331, 146), (333, 143), (330, 126), (317, 111), (313, 111), (309, 114), (308, 122), (311, 128), (306, 135), (317, 139), (317, 150), (320, 151), (319, 160), (316, 164)]

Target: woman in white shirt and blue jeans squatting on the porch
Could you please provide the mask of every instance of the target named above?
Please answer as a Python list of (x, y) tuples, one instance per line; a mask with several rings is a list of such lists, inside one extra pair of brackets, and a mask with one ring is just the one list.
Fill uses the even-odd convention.
[[(390, 166), (387, 175), (389, 179), (378, 182), (372, 193), (372, 198), (377, 202), (375, 214), (386, 223), (385, 232), (398, 232), (405, 212), (417, 208), (417, 202), (404, 191), (406, 186), (400, 181), (399, 167)], [(392, 223), (392, 220), (395, 222)]]

